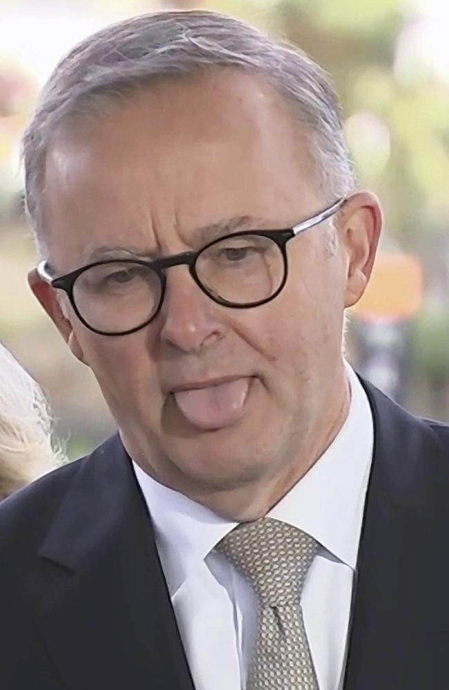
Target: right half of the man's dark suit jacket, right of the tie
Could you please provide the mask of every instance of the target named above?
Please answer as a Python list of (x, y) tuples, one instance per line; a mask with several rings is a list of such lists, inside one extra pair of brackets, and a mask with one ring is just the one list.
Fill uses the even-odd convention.
[(428, 424), (364, 386), (374, 415), (374, 457), (344, 687), (439, 689), (446, 687), (446, 653), (434, 643), (435, 633), (441, 642), (445, 626), (448, 639), (443, 620), (448, 558), (438, 544), (435, 487), (440, 471), (447, 485), (447, 458), (443, 463), (441, 443)]

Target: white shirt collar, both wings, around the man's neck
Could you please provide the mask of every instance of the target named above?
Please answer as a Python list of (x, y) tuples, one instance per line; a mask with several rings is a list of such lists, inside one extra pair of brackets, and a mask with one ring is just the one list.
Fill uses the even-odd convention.
[[(365, 391), (346, 365), (351, 388), (347, 419), (312, 469), (268, 513), (313, 536), (332, 557), (355, 569), (373, 447)], [(205, 506), (147, 475), (135, 462), (149, 507), (162, 569), (173, 596), (235, 526)]]

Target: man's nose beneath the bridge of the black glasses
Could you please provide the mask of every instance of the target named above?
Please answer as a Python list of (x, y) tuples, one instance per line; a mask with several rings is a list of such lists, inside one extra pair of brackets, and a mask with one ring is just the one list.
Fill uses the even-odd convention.
[(160, 311), (161, 340), (184, 353), (195, 353), (220, 341), (225, 326), (217, 306), (195, 284), (187, 266), (166, 272), (166, 293)]

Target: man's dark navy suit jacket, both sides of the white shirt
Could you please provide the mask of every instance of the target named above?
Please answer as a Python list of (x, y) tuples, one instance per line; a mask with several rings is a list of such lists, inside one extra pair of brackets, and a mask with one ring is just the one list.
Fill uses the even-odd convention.
[[(375, 446), (345, 690), (448, 690), (449, 427), (364, 385)], [(193, 690), (118, 437), (0, 504), (0, 598), (3, 690)]]

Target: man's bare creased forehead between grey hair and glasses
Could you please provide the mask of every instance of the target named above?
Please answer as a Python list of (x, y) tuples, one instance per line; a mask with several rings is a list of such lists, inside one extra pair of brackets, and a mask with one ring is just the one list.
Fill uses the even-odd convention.
[(173, 233), (185, 243), (227, 217), (294, 221), (312, 177), (291, 106), (262, 78), (220, 69), (142, 88), (107, 115), (59, 128), (44, 231), (50, 253), (64, 247), (75, 263), (96, 244), (165, 251)]

